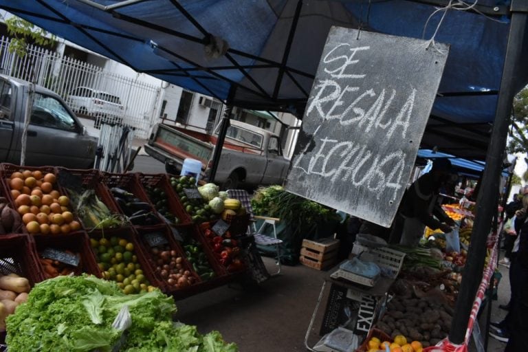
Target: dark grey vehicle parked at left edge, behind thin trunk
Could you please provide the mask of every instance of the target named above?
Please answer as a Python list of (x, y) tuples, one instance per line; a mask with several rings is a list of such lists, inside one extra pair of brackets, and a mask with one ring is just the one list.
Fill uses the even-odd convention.
[[(0, 75), (0, 162), (20, 164), (29, 88), (29, 82)], [(34, 85), (26, 166), (92, 168), (97, 140), (87, 134), (61, 96)]]

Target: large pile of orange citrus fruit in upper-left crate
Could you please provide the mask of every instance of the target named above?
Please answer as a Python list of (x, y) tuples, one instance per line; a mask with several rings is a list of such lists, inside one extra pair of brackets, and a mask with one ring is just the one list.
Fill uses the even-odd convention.
[(30, 234), (67, 234), (80, 230), (69, 210), (69, 198), (56, 190), (53, 173), (22, 170), (7, 180), (14, 205)]

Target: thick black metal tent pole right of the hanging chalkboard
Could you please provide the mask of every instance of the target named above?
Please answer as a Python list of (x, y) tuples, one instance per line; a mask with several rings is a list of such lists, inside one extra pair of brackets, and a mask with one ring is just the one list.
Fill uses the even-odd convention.
[(511, 84), (520, 63), (522, 44), (525, 41), (528, 17), (528, 0), (511, 1), (511, 24), (508, 43), (500, 81), (500, 91), (495, 113), (492, 137), (489, 141), (486, 166), (482, 179), (481, 192), (476, 200), (476, 218), (471, 236), (470, 248), (459, 297), (454, 308), (449, 340), (453, 344), (462, 344), (467, 330), (478, 285), (481, 282), (486, 255), (486, 240), (492, 225), (492, 217), (497, 213), (497, 198), (489, 192), (498, 192), (499, 177), (503, 164), (503, 153), (508, 133), (511, 101), (516, 94)]

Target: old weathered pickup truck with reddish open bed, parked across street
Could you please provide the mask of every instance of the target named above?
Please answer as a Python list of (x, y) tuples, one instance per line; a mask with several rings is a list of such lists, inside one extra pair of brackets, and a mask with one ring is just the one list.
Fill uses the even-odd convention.
[[(220, 125), (219, 125), (220, 126)], [(145, 145), (145, 151), (165, 164), (167, 173), (179, 175), (184, 159), (197, 159), (202, 164), (202, 177), (208, 175), (219, 126), (214, 133), (157, 124)], [(252, 187), (282, 184), (289, 167), (283, 157), (279, 137), (251, 124), (230, 121), (217, 166), (214, 182), (222, 189), (241, 185)]]

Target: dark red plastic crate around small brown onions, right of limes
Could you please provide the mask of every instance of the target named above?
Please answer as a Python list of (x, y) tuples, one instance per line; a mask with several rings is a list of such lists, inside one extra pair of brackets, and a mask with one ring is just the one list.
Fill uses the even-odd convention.
[[(192, 290), (192, 286), (193, 285), (197, 285), (197, 284), (199, 284), (201, 282), (201, 278), (198, 276), (198, 274), (195, 272), (195, 270), (192, 269), (192, 265), (190, 265), (190, 263), (186, 259), (186, 256), (184, 255), (184, 252), (181, 249), (181, 246), (174, 239), (173, 233), (171, 232), (170, 228), (168, 228), (168, 225), (142, 227), (142, 228), (137, 228), (136, 230), (137, 230), (138, 241), (142, 245), (142, 250), (144, 251), (145, 257), (146, 257), (148, 263), (151, 266), (151, 270), (152, 270), (153, 274), (156, 276), (157, 280), (161, 281), (162, 283), (164, 283), (164, 289), (166, 289), (166, 292), (168, 294), (177, 294), (177, 293), (186, 294), (187, 291)], [(183, 259), (181, 261), (181, 266), (182, 266), (181, 269), (188, 270), (190, 272), (190, 274), (191, 274), (191, 276), (192, 276), (192, 278), (194, 280), (194, 283), (192, 285), (190, 285), (188, 287), (175, 289), (175, 288), (171, 287), (170, 285), (168, 285), (166, 278), (163, 278), (160, 274), (158, 274), (156, 272), (155, 269), (156, 269), (156, 267), (159, 264), (156, 263), (156, 258), (154, 256), (154, 254), (151, 253), (151, 246), (144, 239), (144, 236), (146, 234), (149, 234), (149, 233), (152, 233), (152, 232), (161, 233), (164, 236), (164, 238), (166, 239), (166, 241), (167, 241), (166, 246), (168, 246), (168, 248), (170, 248), (170, 250), (175, 250), (176, 253), (177, 253), (176, 255), (181, 257), (181, 259)]]

